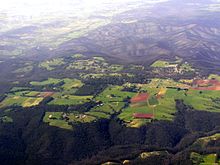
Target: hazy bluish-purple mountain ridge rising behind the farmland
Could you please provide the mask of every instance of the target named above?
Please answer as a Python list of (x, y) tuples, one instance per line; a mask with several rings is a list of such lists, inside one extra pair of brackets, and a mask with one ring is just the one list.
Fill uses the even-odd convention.
[[(135, 15), (135, 11), (126, 13)], [(220, 66), (220, 25), (217, 13), (198, 19), (146, 16), (133, 22), (115, 23), (100, 27), (87, 36), (61, 44), (57, 54), (99, 53), (124, 62), (151, 62), (175, 56), (200, 67)]]

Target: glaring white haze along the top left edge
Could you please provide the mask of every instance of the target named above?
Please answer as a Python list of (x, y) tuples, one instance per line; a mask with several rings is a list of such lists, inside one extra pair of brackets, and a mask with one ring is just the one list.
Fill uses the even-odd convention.
[[(108, 4), (119, 7), (130, 2), (156, 3), (167, 0), (1, 0), (0, 12), (13, 15), (37, 16), (51, 12), (92, 12), (101, 10)], [(83, 9), (83, 10), (82, 10)], [(78, 12), (78, 11), (75, 11)]]

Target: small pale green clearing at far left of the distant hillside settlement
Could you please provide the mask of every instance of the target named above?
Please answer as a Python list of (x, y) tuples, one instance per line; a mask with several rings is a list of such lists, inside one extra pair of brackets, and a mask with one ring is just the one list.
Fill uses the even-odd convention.
[(54, 70), (57, 66), (65, 64), (63, 58), (55, 58), (52, 60), (47, 60), (39, 64), (40, 68), (44, 68), (48, 71)]

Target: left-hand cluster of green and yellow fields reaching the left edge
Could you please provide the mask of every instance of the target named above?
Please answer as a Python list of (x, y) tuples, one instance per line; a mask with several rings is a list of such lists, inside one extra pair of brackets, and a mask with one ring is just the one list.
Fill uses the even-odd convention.
[[(62, 82), (62, 83), (61, 83)], [(60, 83), (60, 85), (59, 85)], [(57, 105), (74, 105), (88, 102), (92, 96), (75, 96), (75, 91), (80, 88), (83, 83), (77, 79), (54, 79), (48, 78), (44, 81), (33, 81), (30, 82), (33, 86), (41, 86), (44, 91), (36, 91), (32, 88), (27, 87), (13, 87), (11, 91), (7, 94), (7, 97), (0, 103), (0, 107), (7, 106), (23, 106), (23, 107), (31, 107), (39, 105), (41, 101), (43, 101), (46, 97), (52, 97), (54, 100), (49, 104), (57, 104)], [(60, 89), (63, 92), (57, 91), (45, 91), (44, 86), (47, 85), (58, 85), (56, 86), (56, 90)]]

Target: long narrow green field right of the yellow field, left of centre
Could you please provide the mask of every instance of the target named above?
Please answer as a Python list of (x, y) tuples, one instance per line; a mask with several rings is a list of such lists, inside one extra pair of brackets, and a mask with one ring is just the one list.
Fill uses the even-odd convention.
[(83, 104), (89, 102), (93, 96), (75, 96), (68, 95), (63, 93), (55, 93), (53, 96), (54, 100), (52, 100), (49, 104), (52, 105), (76, 105)]

